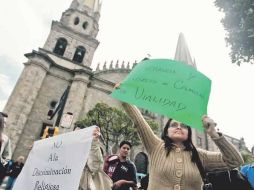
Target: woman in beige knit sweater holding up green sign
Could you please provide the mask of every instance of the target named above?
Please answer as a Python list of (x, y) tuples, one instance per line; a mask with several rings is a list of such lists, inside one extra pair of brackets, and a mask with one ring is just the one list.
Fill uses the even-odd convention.
[(243, 163), (240, 153), (216, 132), (216, 123), (207, 116), (202, 118), (203, 127), (220, 152), (196, 149), (191, 128), (173, 119), (168, 120), (160, 139), (136, 106), (123, 103), (123, 107), (137, 126), (150, 157), (148, 190), (200, 190), (202, 178), (196, 165), (198, 157), (206, 171), (225, 171)]

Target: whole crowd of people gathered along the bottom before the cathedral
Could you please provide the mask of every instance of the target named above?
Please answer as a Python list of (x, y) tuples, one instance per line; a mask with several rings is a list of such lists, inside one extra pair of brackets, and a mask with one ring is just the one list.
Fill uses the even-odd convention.
[[(119, 88), (119, 86), (117, 86)], [(137, 127), (138, 134), (149, 155), (149, 176), (139, 189), (148, 190), (200, 190), (203, 186), (198, 160), (207, 172), (228, 171), (240, 168), (243, 159), (239, 151), (215, 130), (216, 123), (208, 116), (200, 118), (206, 133), (218, 146), (220, 152), (211, 152), (194, 146), (192, 129), (177, 120), (169, 119), (161, 138), (156, 136), (139, 109), (128, 103), (122, 104)], [(6, 190), (11, 190), (24, 166), (25, 158), (12, 160), (10, 139), (3, 133), (7, 114), (0, 112), (0, 184), (8, 176)], [(77, 129), (77, 128), (76, 128)], [(80, 190), (136, 190), (135, 164), (129, 159), (132, 144), (122, 141), (117, 154), (104, 158), (100, 147), (100, 129), (93, 133), (89, 158), (84, 168)], [(254, 187), (254, 164), (241, 167), (240, 171)], [(148, 186), (148, 187), (147, 187)]]

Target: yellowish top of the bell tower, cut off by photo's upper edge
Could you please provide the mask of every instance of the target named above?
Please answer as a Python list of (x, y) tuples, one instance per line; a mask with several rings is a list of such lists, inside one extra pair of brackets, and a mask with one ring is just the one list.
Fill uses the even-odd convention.
[(93, 12), (100, 12), (101, 0), (73, 0), (71, 8), (84, 11), (86, 8), (93, 10)]

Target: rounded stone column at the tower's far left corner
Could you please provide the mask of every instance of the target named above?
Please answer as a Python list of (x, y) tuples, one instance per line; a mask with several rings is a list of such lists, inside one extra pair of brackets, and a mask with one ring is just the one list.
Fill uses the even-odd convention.
[(6, 133), (12, 140), (12, 148), (19, 143), (25, 124), (37, 100), (46, 70), (49, 65), (45, 60), (34, 57), (25, 63), (25, 68), (17, 82), (4, 112), (8, 113)]

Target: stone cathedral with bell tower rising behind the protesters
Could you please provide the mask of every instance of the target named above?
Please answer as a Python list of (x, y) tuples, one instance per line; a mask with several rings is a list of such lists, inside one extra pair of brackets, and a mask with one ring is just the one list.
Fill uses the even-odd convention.
[[(96, 36), (100, 8), (99, 0), (73, 0), (60, 21), (52, 21), (44, 46), (25, 54), (24, 69), (4, 108), (9, 115), (5, 132), (11, 138), (14, 158), (26, 156), (45, 127), (53, 125), (47, 117), (48, 111), (54, 109), (67, 88), (69, 92), (63, 114), (69, 113), (73, 118), (70, 127), (59, 127), (59, 133), (72, 131), (73, 124), (99, 102), (121, 108), (121, 103), (109, 94), (114, 84), (131, 71), (130, 63), (111, 62), (109, 67), (105, 64), (103, 69), (97, 67), (95, 71), (91, 68), (99, 45)], [(182, 35), (179, 36), (175, 59), (195, 67)], [(135, 63), (131, 65), (135, 66)], [(149, 112), (144, 114), (149, 117)], [(155, 116), (163, 127), (166, 118)], [(193, 140), (199, 147), (216, 150), (203, 133), (194, 130)], [(132, 160), (147, 160), (143, 147), (135, 148), (131, 157)]]

